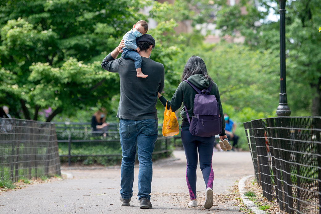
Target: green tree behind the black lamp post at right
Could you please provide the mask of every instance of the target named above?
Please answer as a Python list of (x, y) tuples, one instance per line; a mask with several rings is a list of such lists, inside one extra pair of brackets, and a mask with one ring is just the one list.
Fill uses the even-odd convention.
[[(241, 32), (246, 38), (245, 44), (253, 49), (277, 52), (279, 22), (266, 19), (269, 10), (278, 14), (276, 2), (258, 0), (260, 11), (252, 1), (244, 0), (233, 7), (221, 4), (218, 28), (223, 29), (223, 34)], [(247, 13), (242, 13), (241, 7)], [(321, 38), (314, 30), (321, 22), (320, 9), (318, 0), (289, 0), (286, 4), (287, 91), (292, 115), (300, 115), (307, 109), (312, 109), (309, 114), (321, 115), (321, 53), (318, 48)]]

